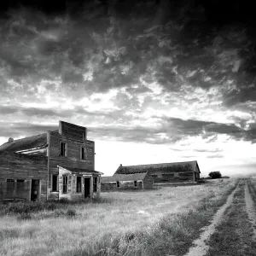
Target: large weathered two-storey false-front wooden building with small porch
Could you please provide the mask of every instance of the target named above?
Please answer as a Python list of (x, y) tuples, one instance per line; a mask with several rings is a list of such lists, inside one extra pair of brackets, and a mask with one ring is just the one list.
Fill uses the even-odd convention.
[(59, 122), (59, 130), (0, 146), (0, 200), (58, 201), (98, 197), (95, 143), (86, 127)]

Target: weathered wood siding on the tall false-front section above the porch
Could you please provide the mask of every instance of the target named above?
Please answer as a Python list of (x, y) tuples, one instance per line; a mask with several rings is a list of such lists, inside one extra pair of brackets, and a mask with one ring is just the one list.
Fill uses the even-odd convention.
[[(58, 174), (57, 166), (65, 166), (71, 168), (85, 168), (90, 171), (94, 171), (95, 168), (95, 143), (93, 141), (86, 140), (85, 148), (87, 148), (87, 157), (85, 160), (81, 159), (81, 147), (84, 146), (83, 135), (81, 135), (80, 126), (76, 133), (75, 126), (73, 125), (72, 132), (68, 133), (67, 127), (62, 124), (61, 132), (62, 136), (58, 131), (49, 132), (49, 200), (58, 200), (61, 198), (60, 192), (51, 191), (52, 188), (52, 175)], [(80, 133), (79, 133), (80, 132)], [(78, 136), (78, 133), (80, 136)], [(82, 139), (81, 139), (82, 138)], [(61, 142), (67, 143), (67, 156), (61, 156), (60, 144)], [(59, 177), (60, 178), (60, 177)], [(72, 177), (68, 181), (72, 183)], [(61, 179), (60, 179), (61, 182)], [(60, 188), (59, 188), (60, 189)], [(100, 188), (99, 188), (100, 189)], [(97, 193), (98, 195), (99, 193)], [(79, 195), (73, 195), (79, 199)]]

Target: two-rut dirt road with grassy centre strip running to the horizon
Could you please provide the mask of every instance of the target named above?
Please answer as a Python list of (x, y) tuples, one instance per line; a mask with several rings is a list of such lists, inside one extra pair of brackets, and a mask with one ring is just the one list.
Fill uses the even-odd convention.
[(242, 179), (185, 256), (255, 256), (255, 191)]

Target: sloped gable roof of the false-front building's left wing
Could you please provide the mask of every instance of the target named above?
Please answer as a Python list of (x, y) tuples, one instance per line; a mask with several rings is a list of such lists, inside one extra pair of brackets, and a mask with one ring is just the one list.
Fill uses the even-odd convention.
[(24, 137), (0, 146), (0, 151), (17, 152), (31, 148), (44, 148), (47, 146), (47, 134), (39, 134), (32, 137)]

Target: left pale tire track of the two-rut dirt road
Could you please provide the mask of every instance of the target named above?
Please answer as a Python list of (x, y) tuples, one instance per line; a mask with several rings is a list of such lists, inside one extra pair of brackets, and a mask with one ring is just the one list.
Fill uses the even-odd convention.
[(193, 241), (194, 247), (190, 247), (189, 252), (186, 253), (184, 256), (204, 256), (207, 254), (207, 251), (209, 249), (209, 246), (207, 245), (207, 240), (209, 240), (209, 238), (215, 232), (218, 224), (221, 223), (225, 210), (230, 207), (239, 183), (240, 181), (236, 184), (236, 189), (234, 189), (232, 193), (230, 193), (224, 205), (218, 209), (218, 212), (215, 213), (211, 224), (203, 228), (201, 236)]

